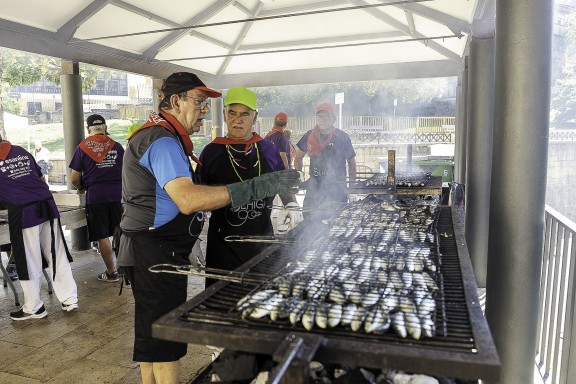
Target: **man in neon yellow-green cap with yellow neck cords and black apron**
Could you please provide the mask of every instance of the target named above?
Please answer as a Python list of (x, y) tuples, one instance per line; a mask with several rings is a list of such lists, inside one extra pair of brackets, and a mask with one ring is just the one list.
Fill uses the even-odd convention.
[[(199, 184), (224, 185), (256, 178), (285, 169), (280, 153), (271, 142), (252, 132), (256, 122), (256, 94), (244, 87), (228, 90), (224, 98), (225, 137), (204, 147), (194, 172)], [(286, 205), (298, 207), (293, 194), (280, 195)], [(231, 235), (273, 235), (272, 197), (241, 207), (230, 205), (212, 211), (206, 244), (206, 267), (234, 270), (263, 250), (262, 244), (226, 241)], [(301, 221), (302, 212), (290, 210), (292, 221)], [(216, 281), (206, 279), (206, 286)]]

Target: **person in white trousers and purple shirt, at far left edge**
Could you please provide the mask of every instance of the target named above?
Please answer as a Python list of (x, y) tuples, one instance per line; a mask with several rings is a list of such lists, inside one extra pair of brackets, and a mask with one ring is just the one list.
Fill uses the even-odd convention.
[(8, 209), (12, 254), (24, 293), (24, 305), (12, 320), (46, 317), (40, 297), (43, 269), (52, 271), (53, 287), (62, 310), (78, 308), (72, 257), (60, 227), (60, 213), (34, 157), (0, 137), (0, 204)]

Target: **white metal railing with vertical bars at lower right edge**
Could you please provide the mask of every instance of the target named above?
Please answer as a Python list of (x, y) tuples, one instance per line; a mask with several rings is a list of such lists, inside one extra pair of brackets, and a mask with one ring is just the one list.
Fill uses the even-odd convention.
[(576, 377), (576, 223), (546, 206), (536, 365), (545, 384)]

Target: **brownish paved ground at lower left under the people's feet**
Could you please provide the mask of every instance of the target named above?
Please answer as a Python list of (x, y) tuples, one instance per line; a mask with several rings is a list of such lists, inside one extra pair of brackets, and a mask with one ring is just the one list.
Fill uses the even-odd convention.
[[(9, 317), (17, 309), (14, 294), (0, 286), (0, 383), (140, 383), (138, 364), (132, 361), (132, 292), (124, 289), (119, 296), (119, 283), (96, 279), (104, 270), (98, 253), (75, 251), (73, 257), (80, 305), (76, 311), (64, 313), (44, 282), (48, 316), (16, 322)], [(4, 253), (2, 261), (6, 263)], [(22, 298), (17, 281), (15, 286)], [(189, 297), (203, 286), (203, 278), (190, 278)], [(211, 362), (211, 352), (190, 345), (182, 360), (180, 382), (196, 377)]]

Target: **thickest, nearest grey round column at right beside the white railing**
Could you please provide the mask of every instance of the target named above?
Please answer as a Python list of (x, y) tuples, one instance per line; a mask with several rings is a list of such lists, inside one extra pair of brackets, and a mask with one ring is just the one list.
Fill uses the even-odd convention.
[(552, 1), (496, 2), (486, 318), (500, 383), (533, 382), (548, 155)]

